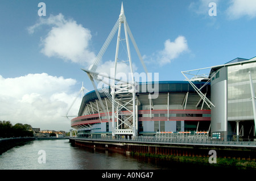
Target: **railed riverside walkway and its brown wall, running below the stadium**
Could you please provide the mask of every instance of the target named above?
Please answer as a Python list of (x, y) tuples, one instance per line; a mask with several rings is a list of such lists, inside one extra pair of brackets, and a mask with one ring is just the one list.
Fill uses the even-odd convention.
[(168, 137), (137, 136), (131, 139), (112, 136), (101, 138), (72, 137), (69, 141), (77, 146), (119, 151), (126, 154), (154, 154), (191, 157), (209, 157), (214, 150), (217, 157), (256, 161), (256, 141), (217, 141), (208, 136)]

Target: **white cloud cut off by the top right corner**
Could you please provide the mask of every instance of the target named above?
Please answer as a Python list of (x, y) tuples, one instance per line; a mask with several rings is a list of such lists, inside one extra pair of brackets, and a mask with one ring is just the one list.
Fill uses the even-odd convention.
[(226, 10), (230, 19), (238, 19), (242, 16), (255, 18), (256, 16), (256, 1), (255, 0), (232, 0), (230, 6)]

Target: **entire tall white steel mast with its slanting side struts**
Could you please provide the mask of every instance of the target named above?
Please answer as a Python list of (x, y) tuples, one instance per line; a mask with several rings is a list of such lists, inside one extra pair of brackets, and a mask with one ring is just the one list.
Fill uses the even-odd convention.
[[(121, 27), (124, 26), (125, 31), (125, 39), (121, 39)], [(105, 53), (105, 50), (108, 48), (108, 45), (110, 41), (113, 39), (113, 36), (115, 32), (118, 29), (118, 36), (117, 36), (117, 47), (115, 51), (115, 64), (114, 64), (114, 75), (109, 76), (101, 73), (97, 73), (96, 69), (98, 66), (98, 63), (100, 62), (103, 54)], [(102, 87), (102, 90), (105, 92), (108, 99), (112, 102), (112, 136), (115, 136), (115, 134), (131, 134), (133, 136), (137, 136), (137, 129), (138, 129), (138, 119), (137, 119), (137, 106), (138, 106), (138, 100), (136, 98), (136, 83), (134, 80), (133, 75), (133, 68), (132, 68), (132, 62), (131, 62), (131, 53), (130, 53), (130, 45), (129, 45), (129, 37), (134, 45), (134, 48), (138, 54), (139, 60), (142, 63), (142, 66), (144, 68), (145, 73), (147, 74), (146, 66), (144, 65), (141, 53), (139, 52), (139, 49), (137, 47), (137, 44), (135, 43), (134, 37), (130, 31), (130, 28), (128, 26), (128, 23), (126, 21), (125, 13), (123, 10), (123, 3), (121, 6), (121, 13), (119, 15), (119, 18), (117, 22), (115, 23), (115, 26), (113, 27), (112, 31), (110, 32), (110, 35), (108, 36), (108, 39), (105, 41), (103, 47), (101, 48), (100, 52), (98, 53), (96, 60), (94, 60), (94, 63), (90, 66), (89, 70), (82, 69), (86, 71), (88, 74), (90, 81), (93, 84), (94, 90), (96, 91), (98, 100), (101, 105), (101, 110), (105, 113), (105, 116), (108, 117), (108, 121), (110, 123), (109, 115), (106, 111), (106, 108), (102, 102), (101, 96), (98, 92), (98, 89), (96, 87), (97, 83), (106, 83), (110, 86), (111, 92), (105, 89), (105, 87)], [(126, 48), (127, 48), (127, 56), (128, 60), (123, 61), (118, 58), (118, 52), (119, 52), (119, 43), (120, 41), (126, 41)], [(125, 63), (129, 65), (130, 67), (130, 75), (132, 80), (130, 82), (122, 81), (116, 78), (116, 72), (117, 72), (117, 64), (118, 63)], [(112, 83), (109, 83), (108, 81), (105, 81), (105, 79), (102, 79), (102, 77), (109, 79), (112, 81)], [(121, 83), (121, 84), (120, 84)], [(136, 104), (137, 102), (137, 104)], [(88, 108), (89, 110), (89, 108)]]

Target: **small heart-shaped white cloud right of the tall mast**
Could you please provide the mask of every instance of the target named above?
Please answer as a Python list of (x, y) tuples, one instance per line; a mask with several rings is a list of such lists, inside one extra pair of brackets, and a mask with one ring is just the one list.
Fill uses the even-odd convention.
[(161, 66), (168, 64), (186, 51), (188, 51), (188, 44), (184, 36), (178, 36), (173, 42), (168, 39), (164, 42), (164, 49), (158, 53), (157, 61)]

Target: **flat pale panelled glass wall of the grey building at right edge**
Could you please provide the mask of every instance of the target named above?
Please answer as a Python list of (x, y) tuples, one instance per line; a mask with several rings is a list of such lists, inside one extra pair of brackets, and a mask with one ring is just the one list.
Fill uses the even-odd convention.
[[(256, 80), (256, 63), (228, 66), (228, 120), (249, 120), (253, 118), (250, 79)], [(256, 82), (253, 82), (254, 91)], [(256, 92), (255, 92), (256, 93)]]

